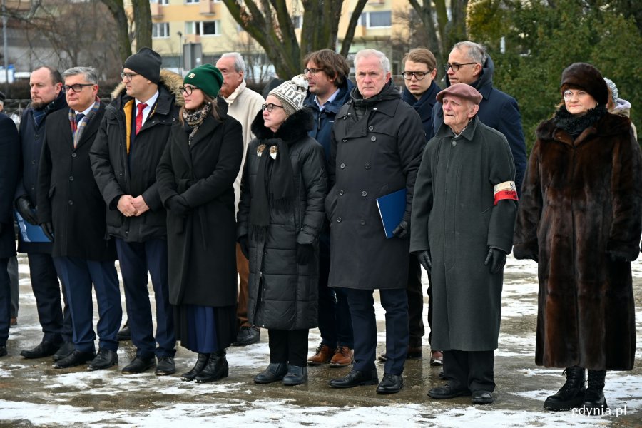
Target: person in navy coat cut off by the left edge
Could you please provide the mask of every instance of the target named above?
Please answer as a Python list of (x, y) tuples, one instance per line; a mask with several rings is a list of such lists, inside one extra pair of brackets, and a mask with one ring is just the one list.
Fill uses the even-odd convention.
[(6, 265), (16, 255), (14, 211), (11, 209), (18, 181), (18, 130), (14, 121), (0, 113), (0, 357), (6, 355), (11, 323), (11, 289)]

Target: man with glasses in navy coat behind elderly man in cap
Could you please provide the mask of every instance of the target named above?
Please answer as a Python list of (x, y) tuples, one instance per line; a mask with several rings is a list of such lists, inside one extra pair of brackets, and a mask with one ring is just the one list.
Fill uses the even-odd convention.
[[(477, 116), (481, 123), (506, 136), (515, 162), (515, 185), (521, 194), (521, 181), (526, 171), (526, 143), (521, 128), (521, 114), (515, 98), (493, 87), (495, 65), (486, 50), (472, 41), (455, 44), (448, 56), (446, 69), (447, 86), (466, 83), (476, 88), (484, 98), (479, 103)], [(435, 104), (433, 111), (433, 135), (444, 123), (442, 104)]]

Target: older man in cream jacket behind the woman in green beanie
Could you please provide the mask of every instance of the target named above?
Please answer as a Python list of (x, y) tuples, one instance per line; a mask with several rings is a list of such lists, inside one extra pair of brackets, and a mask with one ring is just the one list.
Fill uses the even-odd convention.
[[(238, 212), (238, 200), (240, 198), (240, 180), (243, 175), (243, 164), (248, 144), (254, 138), (250, 125), (257, 113), (261, 111), (261, 105), (265, 102), (263, 97), (248, 88), (245, 84), (245, 61), (238, 52), (228, 52), (220, 56), (216, 61), (216, 68), (223, 74), (223, 85), (220, 86), (220, 95), (228, 103), (228, 114), (240, 122), (243, 127), (243, 162), (236, 180), (234, 180), (235, 207)], [(236, 270), (238, 271), (238, 305), (236, 318), (238, 320), (238, 336), (232, 344), (235, 346), (251, 345), (260, 340), (260, 330), (254, 329), (248, 322), (248, 275), (250, 267), (248, 259), (245, 258), (239, 245), (236, 245)]]

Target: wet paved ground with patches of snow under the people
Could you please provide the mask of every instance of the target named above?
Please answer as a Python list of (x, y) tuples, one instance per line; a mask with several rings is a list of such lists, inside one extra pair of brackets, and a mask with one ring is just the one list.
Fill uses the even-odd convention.
[[(427, 389), (442, 384), (428, 358), (409, 360), (399, 394), (380, 396), (375, 387), (332, 389), (327, 380), (349, 369), (311, 367), (310, 382), (298, 387), (257, 385), (254, 375), (267, 365), (267, 333), (250, 347), (228, 350), (230, 377), (213, 384), (181, 382), (179, 375), (153, 372), (123, 376), (135, 350), (121, 343), (119, 365), (88, 372), (85, 367), (54, 370), (51, 360), (26, 360), (24, 347), (41, 338), (30, 290), (26, 258), (20, 258), (19, 324), (11, 328), (9, 355), (0, 359), (0, 427), (642, 427), (642, 351), (632, 372), (609, 372), (610, 413), (587, 417), (546, 412), (541, 405), (563, 383), (561, 370), (534, 365), (536, 265), (509, 258), (506, 266), (499, 350), (496, 351), (496, 402), (472, 406), (469, 398), (435, 401)], [(638, 344), (642, 343), (642, 262), (633, 264)], [(124, 305), (124, 300), (123, 300)], [(425, 311), (424, 311), (425, 313)], [(384, 349), (384, 311), (377, 306), (379, 350)], [(358, 334), (358, 333), (357, 333)], [(320, 342), (310, 333), (310, 352)], [(424, 354), (428, 355), (427, 335)], [(191, 368), (194, 355), (179, 348), (178, 372)], [(379, 376), (383, 374), (380, 367)], [(617, 414), (616, 414), (617, 413)]]

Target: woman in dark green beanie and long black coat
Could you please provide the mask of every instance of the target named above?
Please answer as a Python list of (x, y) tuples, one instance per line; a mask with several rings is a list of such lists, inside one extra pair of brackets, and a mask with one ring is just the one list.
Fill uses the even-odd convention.
[(236, 338), (236, 243), (233, 183), (243, 158), (238, 121), (215, 100), (223, 83), (205, 64), (185, 76), (185, 107), (158, 165), (168, 208), (168, 276), (176, 339), (198, 352), (181, 379), (228, 375), (225, 348)]

